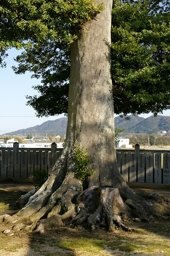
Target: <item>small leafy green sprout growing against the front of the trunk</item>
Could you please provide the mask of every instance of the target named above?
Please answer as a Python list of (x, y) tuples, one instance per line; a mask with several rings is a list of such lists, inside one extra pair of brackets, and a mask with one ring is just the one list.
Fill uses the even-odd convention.
[(88, 155), (88, 149), (80, 148), (79, 145), (74, 147), (74, 158), (75, 158), (75, 175), (76, 177), (84, 181), (87, 177), (91, 177), (95, 171), (89, 170), (88, 165), (93, 163), (92, 158)]

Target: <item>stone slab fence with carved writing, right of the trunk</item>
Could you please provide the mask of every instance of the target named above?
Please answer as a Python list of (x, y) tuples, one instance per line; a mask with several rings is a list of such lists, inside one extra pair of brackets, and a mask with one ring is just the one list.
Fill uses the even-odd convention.
[(119, 171), (126, 182), (170, 184), (170, 150), (117, 149)]

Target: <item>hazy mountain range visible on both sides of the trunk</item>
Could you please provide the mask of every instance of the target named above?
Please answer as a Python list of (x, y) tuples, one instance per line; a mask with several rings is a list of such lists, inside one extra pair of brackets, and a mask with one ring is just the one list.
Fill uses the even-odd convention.
[[(150, 116), (148, 118), (143, 118), (140, 116), (128, 116), (130, 119), (127, 120), (125, 116), (121, 118), (120, 116), (115, 117), (115, 128), (125, 130), (121, 134), (129, 133), (146, 133), (146, 134), (157, 134), (159, 131), (170, 131), (170, 116)], [(36, 125), (34, 127), (29, 127), (27, 129), (20, 129), (18, 131), (10, 132), (9, 135), (26, 134), (30, 135), (38, 134), (38, 136), (46, 136), (48, 134), (54, 135), (65, 135), (67, 129), (67, 118), (62, 117), (54, 121), (47, 121), (41, 125)]]

